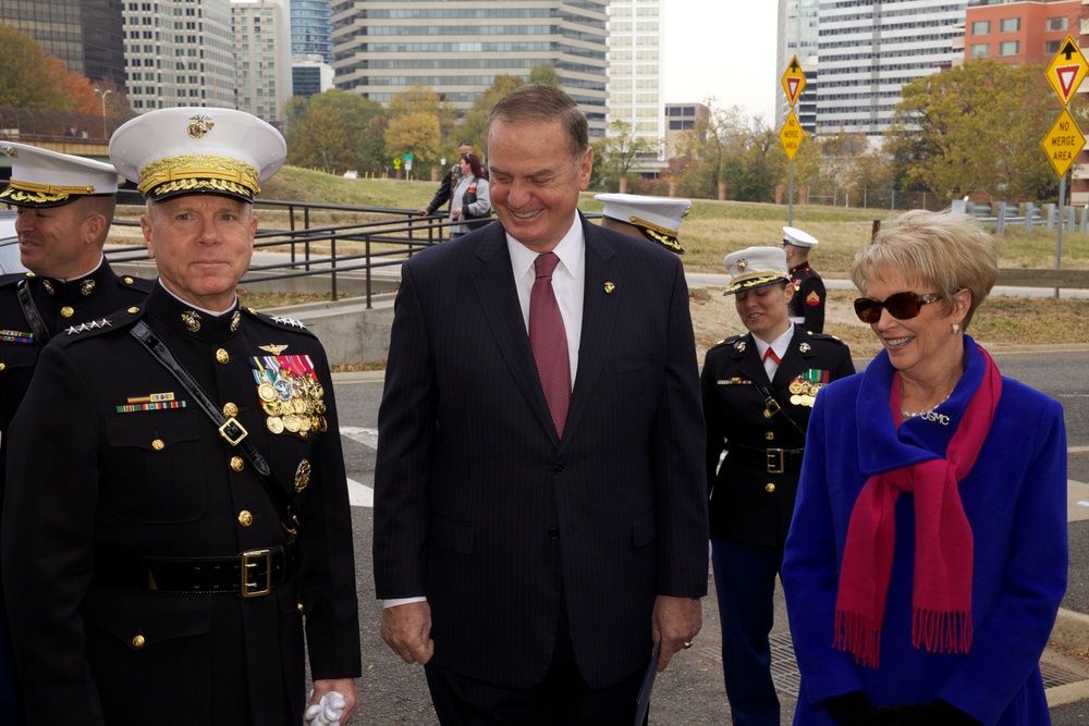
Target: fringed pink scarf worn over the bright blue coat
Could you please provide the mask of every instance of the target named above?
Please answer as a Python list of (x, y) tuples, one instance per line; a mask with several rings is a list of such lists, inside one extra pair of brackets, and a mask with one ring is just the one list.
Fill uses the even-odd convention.
[[(957, 482), (976, 463), (1002, 392), (994, 361), (978, 349), (983, 379), (950, 440), (946, 458), (870, 477), (852, 509), (835, 600), (833, 648), (849, 651), (861, 665), (878, 667), (900, 492), (915, 495), (911, 645), (931, 653), (967, 653), (971, 647), (972, 534)], [(893, 416), (898, 417), (898, 373), (891, 389)]]

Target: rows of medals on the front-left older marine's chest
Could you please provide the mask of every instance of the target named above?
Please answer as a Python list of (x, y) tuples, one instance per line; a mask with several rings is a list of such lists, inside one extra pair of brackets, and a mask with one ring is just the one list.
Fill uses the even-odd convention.
[(265, 424), (269, 431), (276, 434), (289, 431), (306, 438), (311, 431), (329, 428), (322, 401), (326, 392), (309, 356), (255, 357), (253, 362), (257, 395), (268, 416)]

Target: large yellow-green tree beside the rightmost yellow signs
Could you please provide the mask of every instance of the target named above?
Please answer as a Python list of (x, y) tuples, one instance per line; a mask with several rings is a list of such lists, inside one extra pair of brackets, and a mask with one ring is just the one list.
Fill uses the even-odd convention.
[(903, 189), (946, 204), (974, 193), (1008, 200), (1056, 194), (1040, 141), (1057, 118), (1041, 65), (976, 59), (903, 87), (886, 139)]

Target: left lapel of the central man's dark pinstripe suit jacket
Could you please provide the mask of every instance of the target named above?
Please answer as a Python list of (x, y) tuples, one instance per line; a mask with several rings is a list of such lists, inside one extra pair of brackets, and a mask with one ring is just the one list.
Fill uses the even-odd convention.
[(502, 226), (494, 224), (487, 230), (477, 248), (478, 267), (473, 272), (480, 307), (488, 324), (499, 343), (499, 349), (514, 374), (517, 386), (526, 396), (541, 424), (555, 436), (555, 426), (549, 414), (544, 391), (537, 376), (537, 362), (529, 335), (522, 318), (522, 305), (514, 284), (511, 254), (506, 248), (506, 234)]

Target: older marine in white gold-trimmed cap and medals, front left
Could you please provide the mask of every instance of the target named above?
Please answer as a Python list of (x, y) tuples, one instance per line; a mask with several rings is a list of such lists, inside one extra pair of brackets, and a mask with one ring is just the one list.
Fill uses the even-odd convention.
[(175, 108), (110, 152), (148, 199), (159, 280), (47, 346), (12, 424), (2, 557), (29, 722), (295, 726), (304, 649), (314, 700), (341, 692), (346, 719), (359, 630), (326, 356), (235, 294), (283, 137)]

